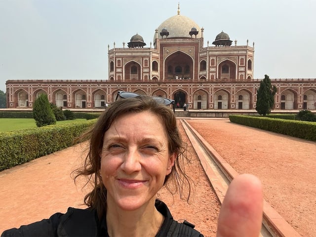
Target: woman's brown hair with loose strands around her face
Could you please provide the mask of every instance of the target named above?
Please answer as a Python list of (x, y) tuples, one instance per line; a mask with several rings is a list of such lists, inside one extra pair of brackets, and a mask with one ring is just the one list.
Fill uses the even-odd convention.
[[(88, 178), (92, 183), (93, 190), (84, 197), (84, 203), (97, 210), (99, 218), (106, 210), (107, 190), (102, 183), (100, 176), (101, 158), (105, 132), (111, 124), (120, 116), (126, 113), (140, 113), (149, 111), (160, 118), (166, 131), (168, 149), (170, 154), (177, 154), (171, 173), (165, 177), (164, 186), (171, 194), (179, 191), (182, 199), (189, 200), (191, 194), (191, 179), (185, 174), (184, 162), (189, 162), (186, 156), (186, 149), (180, 137), (176, 117), (170, 107), (159, 104), (150, 96), (137, 96), (129, 99), (119, 99), (109, 107), (98, 118), (92, 129), (82, 135), (90, 138), (88, 154), (81, 168), (75, 170), (75, 182), (79, 176)], [(187, 190), (184, 194), (184, 190)], [(186, 197), (184, 197), (186, 196)]]

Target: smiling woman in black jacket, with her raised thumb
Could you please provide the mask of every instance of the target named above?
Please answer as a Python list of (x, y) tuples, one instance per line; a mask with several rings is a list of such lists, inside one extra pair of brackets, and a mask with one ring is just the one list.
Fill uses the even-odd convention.
[[(117, 100), (85, 134), (90, 137), (89, 151), (76, 178), (83, 175), (93, 183), (93, 190), (84, 198), (87, 209), (69, 208), (65, 214), (56, 213), (49, 219), (5, 231), (2, 236), (202, 237), (190, 223), (174, 221), (167, 206), (157, 199), (162, 186), (177, 188), (181, 196), (181, 190), (187, 187), (187, 200), (191, 190), (190, 179), (183, 172), (186, 156), (175, 115), (159, 101), (149, 96)], [(250, 183), (250, 179), (255, 181)], [(252, 228), (258, 236), (260, 211), (249, 207), (258, 202), (239, 209), (235, 206), (232, 212), (232, 203), (243, 194), (236, 187), (245, 185), (240, 203), (248, 200), (250, 193), (259, 200), (258, 182), (243, 177), (235, 183), (235, 189), (228, 192), (228, 203), (223, 204), (226, 207), (220, 214), (218, 235), (231, 235), (234, 220), (234, 234), (251, 236)], [(236, 232), (240, 226), (246, 232)]]

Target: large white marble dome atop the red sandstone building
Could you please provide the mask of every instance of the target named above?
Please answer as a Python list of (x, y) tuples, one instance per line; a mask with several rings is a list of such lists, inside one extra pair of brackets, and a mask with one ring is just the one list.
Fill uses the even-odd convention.
[[(189, 17), (183, 16), (183, 15), (175, 15), (158, 26), (158, 39), (161, 39), (161, 36), (159, 35), (163, 28), (166, 28), (169, 32), (169, 38), (191, 38), (189, 35), (189, 32), (192, 28), (196, 28), (198, 31), (197, 38), (201, 38), (201, 29), (197, 25), (195, 21), (190, 19)], [(195, 38), (195, 37), (194, 37)], [(165, 39), (165, 37), (164, 37)], [(156, 40), (156, 34), (154, 35), (154, 42)]]

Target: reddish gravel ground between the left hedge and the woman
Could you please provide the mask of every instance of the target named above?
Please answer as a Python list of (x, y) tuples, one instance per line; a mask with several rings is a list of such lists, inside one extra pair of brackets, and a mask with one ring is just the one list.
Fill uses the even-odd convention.
[(0, 172), (0, 233), (80, 207), (83, 180), (77, 188), (70, 173), (80, 163), (83, 144)]

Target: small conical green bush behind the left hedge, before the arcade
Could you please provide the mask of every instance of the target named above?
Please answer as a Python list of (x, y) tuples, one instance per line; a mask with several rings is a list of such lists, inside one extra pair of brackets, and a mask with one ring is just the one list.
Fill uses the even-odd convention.
[(56, 124), (56, 118), (46, 94), (40, 96), (33, 103), (33, 118), (36, 120), (38, 127)]

